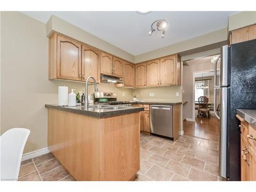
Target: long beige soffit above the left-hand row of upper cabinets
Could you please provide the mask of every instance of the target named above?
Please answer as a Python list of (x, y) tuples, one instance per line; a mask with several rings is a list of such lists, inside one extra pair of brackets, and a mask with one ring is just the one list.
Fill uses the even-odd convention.
[(53, 31), (65, 34), (67, 36), (73, 37), (79, 41), (82, 41), (88, 45), (94, 46), (98, 49), (126, 59), (128, 61), (134, 62), (134, 56), (126, 51), (106, 42), (91, 33), (88, 33), (68, 22), (62, 20), (55, 15), (52, 15), (46, 24), (46, 35), (49, 36)]

